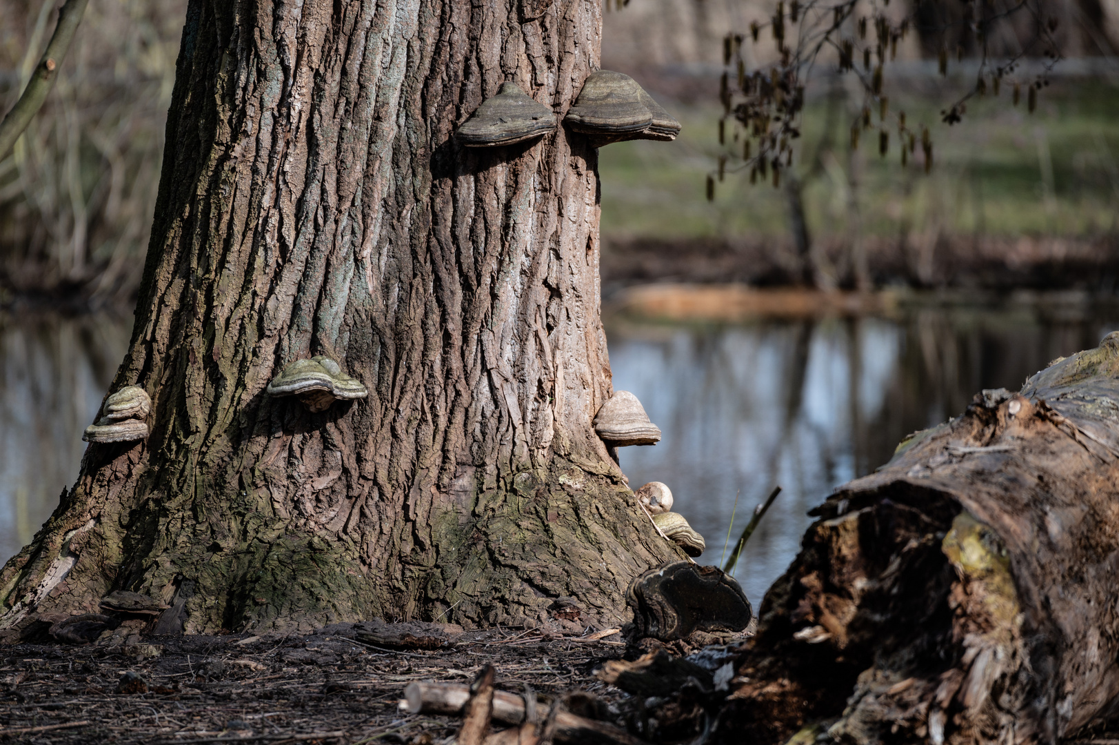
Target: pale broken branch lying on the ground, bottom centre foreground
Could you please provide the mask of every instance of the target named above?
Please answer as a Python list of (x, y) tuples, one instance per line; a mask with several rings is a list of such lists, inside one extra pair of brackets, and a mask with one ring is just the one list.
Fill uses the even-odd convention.
[[(399, 708), (407, 714), (442, 714), (463, 716), (470, 701), (470, 687), (459, 683), (412, 682), (404, 689)], [(491, 709), (493, 721), (520, 725), (525, 721), (525, 700), (516, 693), (493, 690)], [(572, 745), (646, 745), (643, 741), (621, 727), (605, 721), (596, 721), (563, 709), (555, 711), (553, 739)], [(495, 733), (486, 743), (508, 743), (517, 739), (517, 733)], [(546, 741), (540, 737), (540, 741)]]

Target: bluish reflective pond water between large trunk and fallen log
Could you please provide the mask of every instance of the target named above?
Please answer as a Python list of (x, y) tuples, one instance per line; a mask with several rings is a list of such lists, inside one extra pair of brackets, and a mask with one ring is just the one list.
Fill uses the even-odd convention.
[(702, 564), (722, 562), (737, 492), (732, 544), (754, 505), (783, 487), (735, 570), (756, 606), (833, 488), (980, 389), (1016, 390), (1054, 357), (1096, 346), (1119, 327), (1104, 319), (1035, 307), (718, 326), (615, 318), (614, 389), (636, 393), (664, 432), (655, 447), (621, 448), (622, 469), (631, 487), (669, 485), (674, 509), (707, 540)]

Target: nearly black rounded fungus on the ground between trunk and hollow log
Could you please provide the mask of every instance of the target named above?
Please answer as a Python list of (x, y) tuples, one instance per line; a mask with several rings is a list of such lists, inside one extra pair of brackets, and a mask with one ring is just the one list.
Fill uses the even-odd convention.
[(674, 561), (650, 569), (626, 590), (633, 622), (622, 628), (630, 640), (651, 636), (662, 642), (694, 632), (741, 632), (753, 608), (739, 583), (718, 567)]

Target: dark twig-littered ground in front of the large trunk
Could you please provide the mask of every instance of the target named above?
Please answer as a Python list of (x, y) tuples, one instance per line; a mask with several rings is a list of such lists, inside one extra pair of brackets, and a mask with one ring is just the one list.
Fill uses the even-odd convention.
[(352, 624), (307, 635), (150, 636), (129, 645), (0, 646), (0, 743), (439, 743), (459, 719), (398, 708), (412, 681), (496, 686), (546, 696), (624, 693), (593, 677), (619, 659), (619, 634), (587, 642), (542, 631), (466, 632), (439, 651), (392, 651)]

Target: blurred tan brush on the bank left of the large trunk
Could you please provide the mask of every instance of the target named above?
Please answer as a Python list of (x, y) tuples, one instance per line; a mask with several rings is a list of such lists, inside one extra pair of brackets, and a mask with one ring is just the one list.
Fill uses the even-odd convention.
[[(51, 0), (0, 2), (7, 112), (55, 27)], [(186, 2), (92, 2), (54, 91), (0, 160), (0, 288), (131, 297), (148, 246)]]

